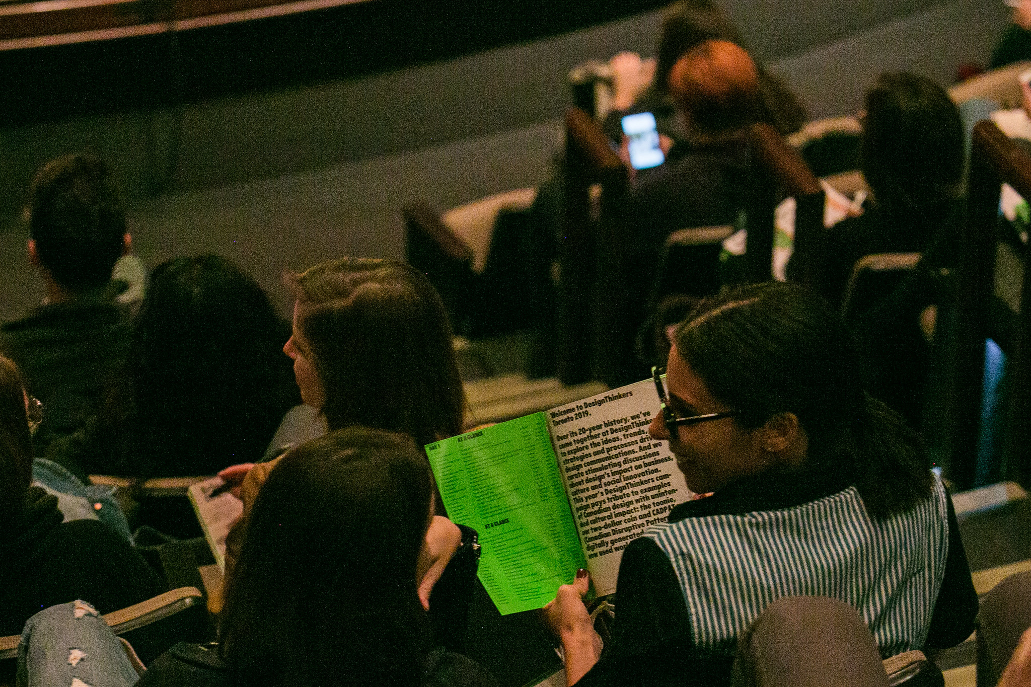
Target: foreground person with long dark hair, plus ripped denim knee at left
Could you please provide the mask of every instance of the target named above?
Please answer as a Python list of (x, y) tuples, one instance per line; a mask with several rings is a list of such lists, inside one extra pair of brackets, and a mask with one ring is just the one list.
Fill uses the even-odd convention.
[[(255, 504), (214, 645), (180, 643), (136, 672), (110, 629), (71, 604), (26, 625), (28, 687), (496, 687), (436, 646), (418, 592), (433, 519), (422, 449), (351, 426), (291, 450)], [(78, 648), (88, 658), (68, 660)]]

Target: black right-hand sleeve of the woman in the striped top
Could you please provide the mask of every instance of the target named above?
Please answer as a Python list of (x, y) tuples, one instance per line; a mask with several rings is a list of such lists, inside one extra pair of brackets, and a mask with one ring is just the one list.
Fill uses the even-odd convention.
[(945, 559), (945, 575), (934, 602), (931, 615), (931, 629), (925, 646), (932, 649), (954, 647), (970, 637), (977, 616), (977, 592), (970, 578), (966, 550), (960, 538), (959, 523), (952, 497), (949, 503), (949, 556)]

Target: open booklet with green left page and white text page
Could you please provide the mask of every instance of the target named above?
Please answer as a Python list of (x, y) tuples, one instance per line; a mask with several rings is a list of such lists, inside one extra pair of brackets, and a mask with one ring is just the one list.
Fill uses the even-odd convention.
[(448, 517), (479, 533), (479, 579), (502, 615), (539, 609), (591, 573), (616, 591), (623, 549), (694, 494), (651, 379), (426, 446)]

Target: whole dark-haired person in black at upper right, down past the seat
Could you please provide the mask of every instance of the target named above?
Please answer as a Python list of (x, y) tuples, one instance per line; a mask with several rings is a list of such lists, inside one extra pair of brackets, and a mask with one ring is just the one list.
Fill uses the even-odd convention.
[(923, 253), (893, 294), (850, 307), (847, 314), (867, 363), (869, 390), (919, 427), (930, 356), (921, 313), (940, 300), (936, 275), (956, 266), (965, 219), (963, 123), (944, 89), (908, 73), (878, 76), (861, 119), (860, 165), (873, 193), (861, 215), (792, 255), (788, 277), (810, 275), (813, 288), (843, 307), (861, 257)]

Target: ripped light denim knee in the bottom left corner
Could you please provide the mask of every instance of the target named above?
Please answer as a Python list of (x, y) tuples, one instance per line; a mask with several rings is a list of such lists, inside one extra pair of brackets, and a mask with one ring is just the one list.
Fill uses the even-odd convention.
[(29, 618), (18, 645), (18, 687), (131, 687), (139, 676), (97, 611), (76, 600)]

